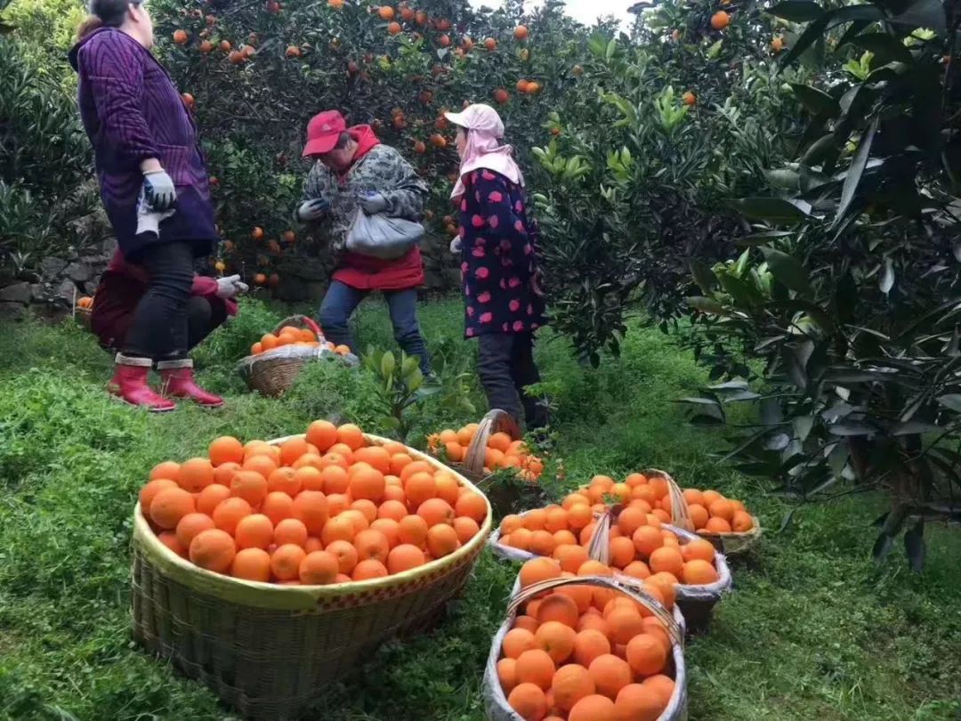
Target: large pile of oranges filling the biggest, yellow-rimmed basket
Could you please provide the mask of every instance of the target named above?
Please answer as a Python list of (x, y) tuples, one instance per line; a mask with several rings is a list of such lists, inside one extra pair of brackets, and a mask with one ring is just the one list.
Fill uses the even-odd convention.
[(315, 421), (280, 445), (223, 436), (208, 458), (164, 461), (140, 490), (160, 541), (215, 573), (345, 584), (403, 573), (480, 534), (488, 506), (401, 443)]

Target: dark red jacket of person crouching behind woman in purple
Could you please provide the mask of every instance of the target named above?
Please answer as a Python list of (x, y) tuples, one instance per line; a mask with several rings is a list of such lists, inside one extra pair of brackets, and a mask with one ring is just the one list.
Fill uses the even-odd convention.
[[(103, 345), (110, 348), (123, 345), (136, 304), (147, 292), (147, 283), (147, 273), (141, 266), (125, 261), (119, 248), (114, 251), (97, 286), (90, 315), (90, 329)], [(211, 305), (223, 304), (228, 315), (237, 314), (236, 301), (217, 297), (217, 281), (213, 278), (195, 275), (190, 293), (207, 298)]]

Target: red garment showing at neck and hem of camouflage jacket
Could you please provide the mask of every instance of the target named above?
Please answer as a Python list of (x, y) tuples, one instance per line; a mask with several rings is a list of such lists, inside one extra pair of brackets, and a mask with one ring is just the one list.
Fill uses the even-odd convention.
[[(347, 132), (357, 140), (354, 162), (381, 144), (369, 125), (355, 125)], [(333, 280), (360, 290), (406, 290), (424, 285), (424, 260), (416, 245), (393, 261), (346, 251), (333, 272)]]

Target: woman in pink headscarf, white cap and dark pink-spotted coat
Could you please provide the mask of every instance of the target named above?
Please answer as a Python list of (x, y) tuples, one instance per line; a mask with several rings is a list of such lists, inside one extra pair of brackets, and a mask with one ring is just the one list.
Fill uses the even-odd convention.
[[(527, 213), (524, 176), (502, 142), (504, 123), (493, 108), (448, 112), (457, 127), (460, 176), (452, 200), (460, 229), (464, 336), (480, 343), (478, 373), (490, 408), (506, 410), (528, 430), (547, 425), (546, 405), (526, 388), (540, 382), (534, 332), (547, 323), (540, 288), (536, 224)], [(522, 412), (523, 411), (523, 412)]]

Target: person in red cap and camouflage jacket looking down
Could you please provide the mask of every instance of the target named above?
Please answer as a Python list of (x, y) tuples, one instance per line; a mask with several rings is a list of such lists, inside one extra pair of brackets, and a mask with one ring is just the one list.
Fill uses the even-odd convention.
[(347, 231), (362, 211), (419, 222), (427, 184), (392, 147), (383, 145), (369, 125), (348, 128), (337, 111), (321, 112), (308, 124), (304, 157), (317, 162), (310, 170), (297, 217), (323, 222), (337, 259), (331, 286), (320, 306), (324, 334), (354, 350), (348, 322), (371, 290), (382, 291), (394, 337), (410, 356), (420, 359), (431, 376), (431, 360), (417, 321), (417, 286), (424, 283), (420, 248), (413, 245), (396, 260), (345, 250)]

